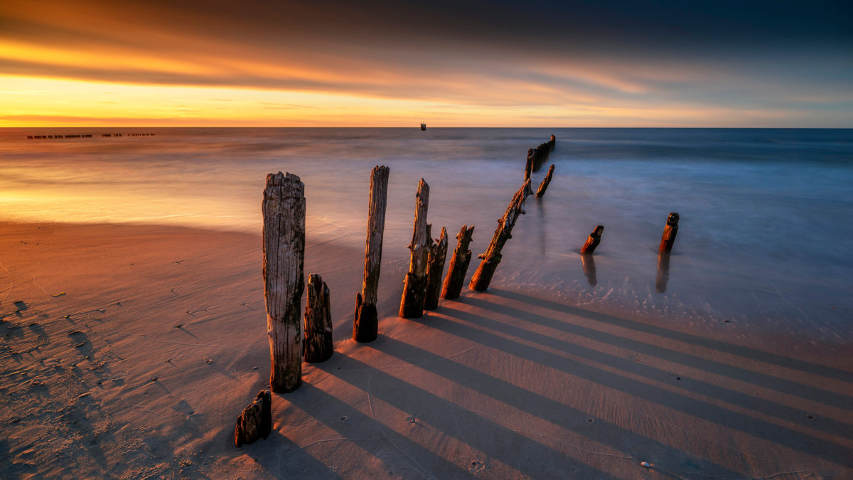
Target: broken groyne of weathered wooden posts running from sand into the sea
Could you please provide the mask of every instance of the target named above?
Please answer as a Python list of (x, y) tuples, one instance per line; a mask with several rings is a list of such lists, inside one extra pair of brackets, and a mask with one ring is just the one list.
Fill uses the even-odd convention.
[[(519, 215), (525, 213), (525, 200), (533, 195), (531, 172), (537, 172), (554, 150), (554, 135), (536, 149), (529, 149), (525, 164), (525, 182), (509, 202), (506, 212), (498, 220), (495, 233), (473, 273), (468, 287), (485, 291), (502, 259), (502, 249), (512, 237)], [(536, 192), (542, 198), (554, 174), (554, 165)], [(389, 168), (374, 167), (370, 175), (368, 200), (368, 227), (365, 245), (362, 291), (356, 295), (353, 313), (352, 338), (357, 342), (372, 342), (378, 336), (377, 294), (382, 258), (382, 237), (385, 230), (385, 212)], [(399, 316), (420, 318), (424, 310), (438, 307), (439, 296), (456, 299), (471, 261), (468, 245), (473, 236), (473, 225), (463, 225), (456, 235), (457, 243), (444, 282), (441, 274), (447, 255), (447, 231), (442, 227), (440, 237), (433, 241), (432, 225), (427, 224), (429, 185), (424, 179), (418, 183), (415, 196), (415, 225), (409, 243), (409, 271), (403, 281)], [(291, 392), (302, 382), (302, 359), (308, 362), (328, 360), (334, 353), (329, 290), (320, 275), (311, 273), (308, 278), (308, 298), (305, 305), (305, 333), (300, 328), (300, 303), (305, 280), (303, 263), (305, 255), (305, 184), (292, 173), (270, 173), (264, 188), (264, 300), (267, 309), (267, 333), (270, 337), (270, 389), (276, 393)], [(598, 225), (581, 249), (582, 258), (589, 258), (601, 243), (604, 226)], [(678, 214), (670, 214), (660, 244), (661, 255), (668, 255), (678, 231)], [(659, 264), (661, 260), (659, 258)], [(586, 266), (586, 263), (584, 263)], [(665, 287), (664, 287), (665, 288)], [(264, 391), (256, 401), (241, 413), (235, 427), (235, 444), (253, 442), (258, 435), (269, 434), (269, 398)], [(264, 414), (264, 419), (246, 419), (246, 415)], [(251, 425), (263, 425), (252, 430)], [(243, 425), (243, 426), (241, 426)], [(247, 426), (249, 425), (249, 426)], [(242, 430), (241, 430), (242, 429)], [(265, 429), (265, 431), (264, 431)], [(255, 432), (247, 435), (246, 432)], [(258, 433), (259, 432), (259, 433)]]

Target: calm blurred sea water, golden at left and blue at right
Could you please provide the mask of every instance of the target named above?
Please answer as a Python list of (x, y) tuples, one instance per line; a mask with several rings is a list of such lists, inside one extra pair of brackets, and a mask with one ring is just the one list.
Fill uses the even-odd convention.
[[(77, 133), (93, 137), (26, 138)], [(542, 201), (528, 200), (496, 286), (608, 311), (850, 338), (853, 130), (3, 129), (0, 219), (259, 232), (265, 176), (287, 171), (305, 182), (309, 241), (363, 249), (369, 171), (384, 164), (386, 262), (408, 259), (421, 177), (436, 236), (446, 226), (452, 249), (461, 225), (476, 225), (476, 255), (522, 183), (527, 149), (552, 133), (557, 149), (534, 182), (550, 163), (554, 181)], [(681, 228), (659, 292), (670, 211)], [(578, 251), (599, 224), (591, 285)]]

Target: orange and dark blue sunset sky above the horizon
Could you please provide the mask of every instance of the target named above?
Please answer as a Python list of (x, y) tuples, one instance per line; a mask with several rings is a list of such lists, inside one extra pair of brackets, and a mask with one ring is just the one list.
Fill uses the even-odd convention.
[(853, 127), (847, 2), (0, 3), (0, 126)]

